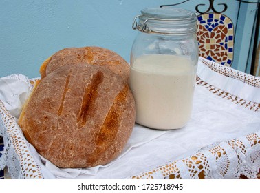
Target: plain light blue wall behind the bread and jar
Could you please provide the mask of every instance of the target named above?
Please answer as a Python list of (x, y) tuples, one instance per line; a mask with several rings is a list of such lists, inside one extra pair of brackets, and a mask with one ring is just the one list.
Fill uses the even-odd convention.
[[(101, 46), (129, 61), (137, 33), (131, 29), (133, 18), (143, 8), (179, 2), (182, 0), (0, 0), (0, 77), (13, 73), (39, 77), (41, 63), (67, 47)], [(194, 11), (200, 2), (206, 4), (200, 9), (206, 10), (206, 0), (178, 7)], [(237, 1), (224, 3), (228, 3), (225, 14), (236, 21)]]

